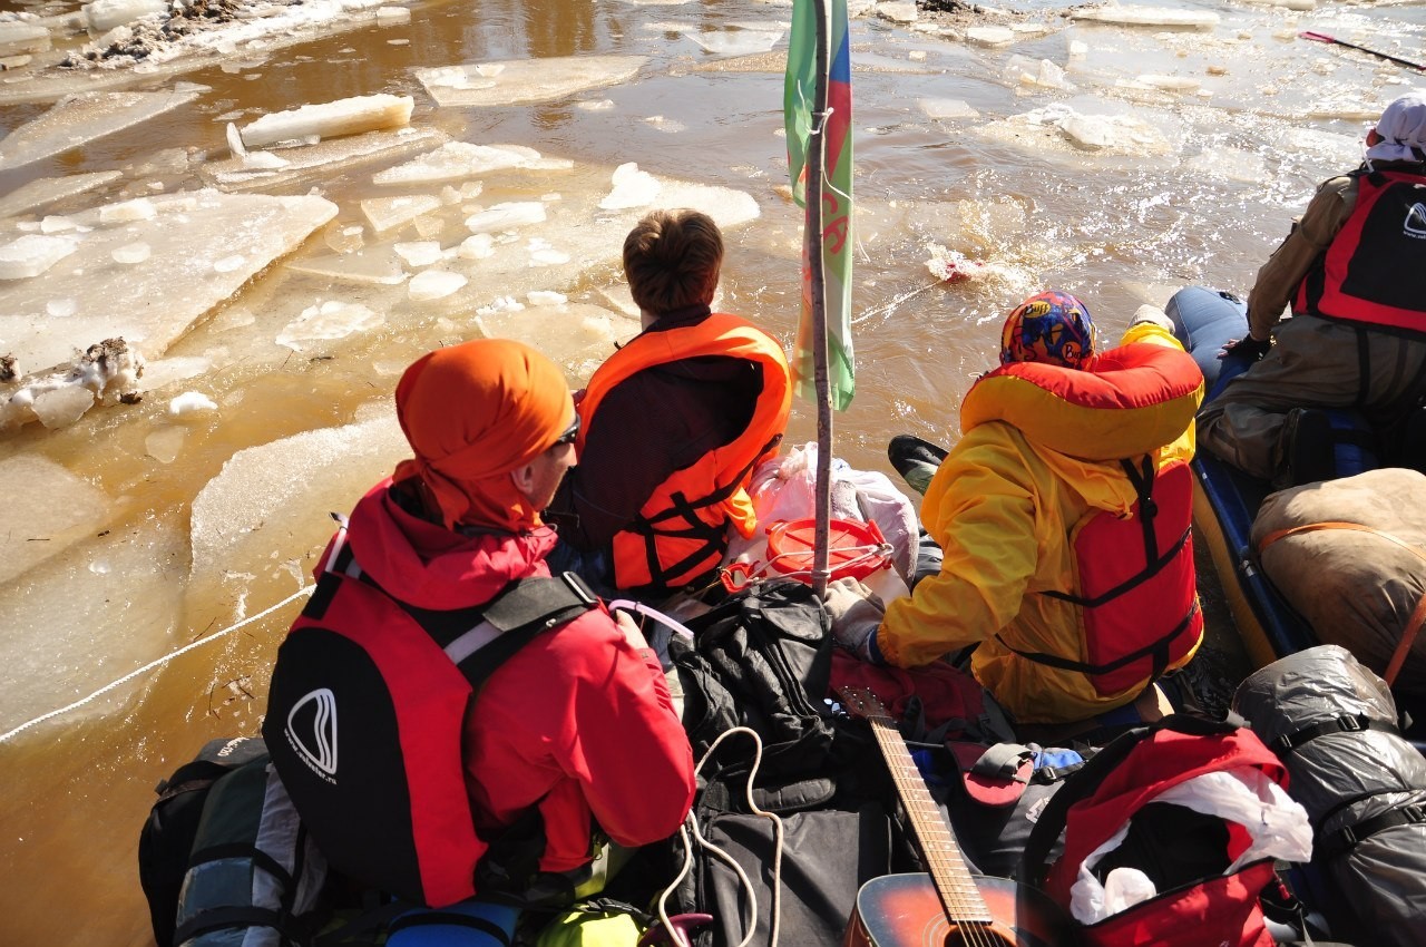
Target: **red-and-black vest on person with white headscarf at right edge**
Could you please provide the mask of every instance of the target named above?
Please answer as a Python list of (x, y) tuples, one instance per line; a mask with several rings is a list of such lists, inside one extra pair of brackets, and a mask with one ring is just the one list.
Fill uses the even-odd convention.
[(1426, 175), (1356, 178), (1352, 214), (1302, 280), (1292, 309), (1426, 332)]

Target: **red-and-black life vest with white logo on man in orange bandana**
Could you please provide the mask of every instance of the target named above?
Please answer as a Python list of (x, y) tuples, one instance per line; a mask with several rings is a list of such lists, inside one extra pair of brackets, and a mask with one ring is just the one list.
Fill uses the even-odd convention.
[(533, 635), (596, 600), (558, 579), (526, 579), (479, 609), (425, 613), (428, 629), (362, 578), (344, 536), (278, 649), (262, 736), (332, 867), (445, 907), (475, 894), (489, 849), (461, 749), (475, 692)]

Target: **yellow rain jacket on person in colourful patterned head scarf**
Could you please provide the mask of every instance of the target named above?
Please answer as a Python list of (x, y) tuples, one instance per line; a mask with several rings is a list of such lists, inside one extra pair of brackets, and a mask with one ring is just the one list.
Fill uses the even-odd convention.
[[(1135, 342), (1182, 352), (1166, 329), (1151, 322), (1129, 328), (1122, 344)], [(1182, 362), (1169, 362), (1172, 371), (1162, 385), (1155, 381), (1148, 392), (1139, 391), (1127, 411), (1097, 405), (1094, 414), (1084, 414), (1082, 406), (1042, 391), (1032, 392), (1018, 409), (1005, 404), (1001, 389), (994, 396), (988, 388), (967, 395), (961, 441), (935, 472), (921, 503), (921, 522), (945, 559), (940, 575), (923, 579), (914, 595), (887, 608), (876, 636), (883, 660), (914, 667), (980, 642), (971, 662), (975, 677), (1021, 723), (1085, 720), (1142, 692), (1148, 675), (1118, 693), (1104, 695), (1084, 673), (1017, 652), (1070, 657), (1084, 653), (1081, 606), (1040, 593), (1078, 589), (1072, 536), (1077, 523), (1097, 511), (1121, 518), (1131, 513), (1138, 493), (1121, 459), (1148, 455), (1162, 471), (1192, 458), (1202, 375), (1186, 354)], [(1018, 426), (1005, 415), (1014, 416)], [(1082, 425), (1104, 436), (1081, 436)], [(1188, 563), (1192, 568), (1191, 548)], [(1196, 643), (1195, 636), (1186, 656), (1171, 666), (1186, 663)]]

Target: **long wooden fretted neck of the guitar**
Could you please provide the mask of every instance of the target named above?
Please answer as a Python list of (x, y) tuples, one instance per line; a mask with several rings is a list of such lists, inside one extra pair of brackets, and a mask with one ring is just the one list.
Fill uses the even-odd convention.
[(941, 810), (925, 789), (921, 772), (901, 739), (901, 732), (896, 729), (890, 716), (868, 715), (867, 720), (886, 757), (887, 769), (891, 770), (911, 829), (921, 843), (921, 851), (925, 854), (931, 880), (935, 883), (947, 917), (955, 921), (990, 923), (992, 920), (990, 908), (970, 869), (965, 867), (965, 860), (961, 859), (951, 827), (945, 824)]

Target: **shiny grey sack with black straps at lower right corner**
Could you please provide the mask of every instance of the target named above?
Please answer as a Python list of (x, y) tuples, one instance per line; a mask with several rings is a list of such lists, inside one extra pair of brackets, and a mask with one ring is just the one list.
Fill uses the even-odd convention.
[(1336, 937), (1426, 947), (1426, 757), (1396, 733), (1386, 683), (1320, 645), (1243, 680), (1233, 712), (1286, 764), (1312, 819), (1313, 890), (1299, 894)]

